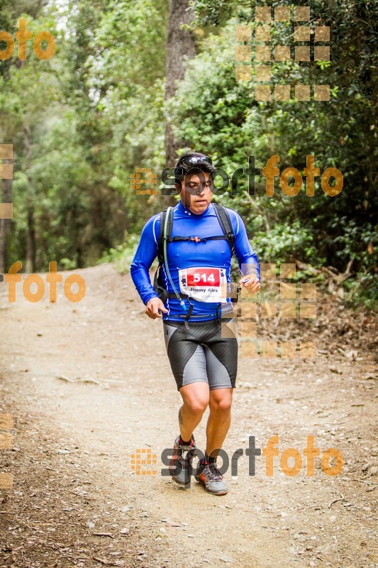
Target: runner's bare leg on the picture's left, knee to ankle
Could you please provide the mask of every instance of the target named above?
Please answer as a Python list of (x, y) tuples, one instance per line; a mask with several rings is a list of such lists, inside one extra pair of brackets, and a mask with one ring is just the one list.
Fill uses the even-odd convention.
[(180, 394), (183, 400), (179, 409), (180, 435), (184, 442), (189, 442), (209, 405), (209, 384), (204, 381), (190, 383), (180, 388)]

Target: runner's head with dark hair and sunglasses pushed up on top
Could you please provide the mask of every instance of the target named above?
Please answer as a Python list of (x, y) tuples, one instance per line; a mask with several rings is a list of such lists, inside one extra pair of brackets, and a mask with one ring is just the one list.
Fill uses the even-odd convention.
[(209, 156), (189, 152), (177, 160), (174, 180), (181, 201), (192, 213), (206, 211), (213, 197), (213, 162)]

